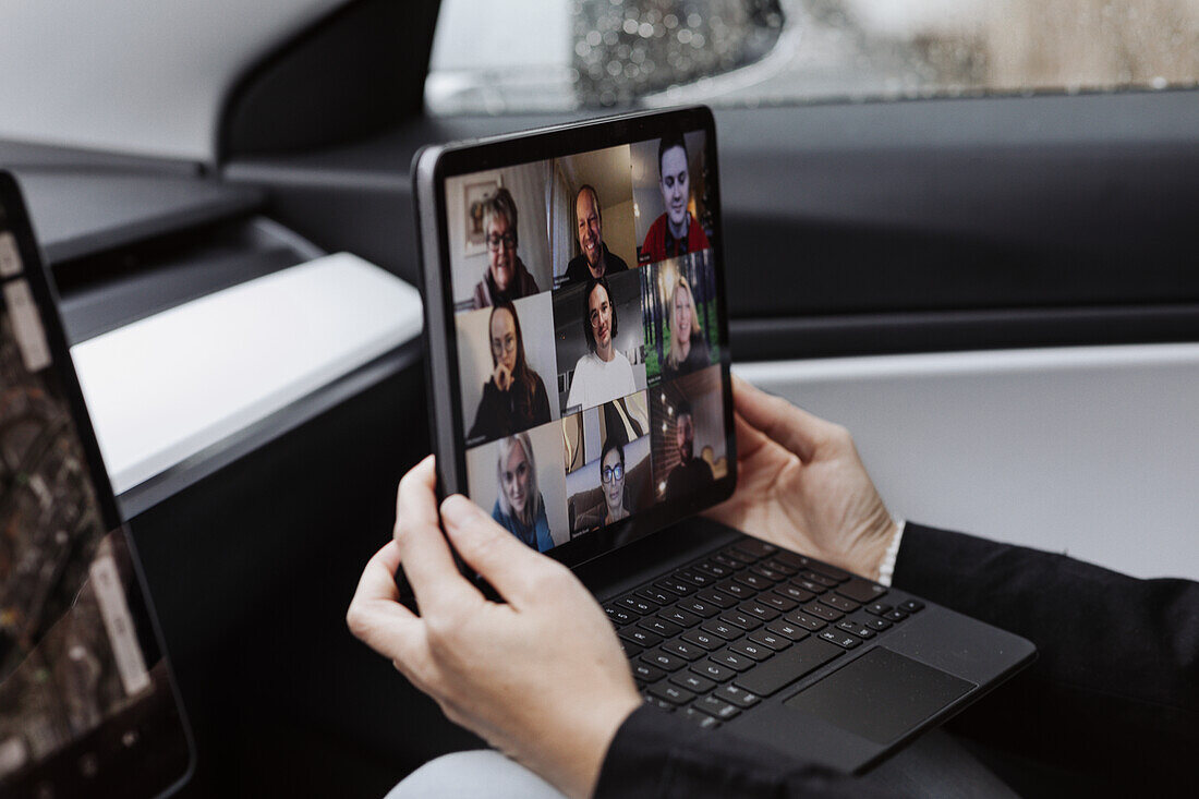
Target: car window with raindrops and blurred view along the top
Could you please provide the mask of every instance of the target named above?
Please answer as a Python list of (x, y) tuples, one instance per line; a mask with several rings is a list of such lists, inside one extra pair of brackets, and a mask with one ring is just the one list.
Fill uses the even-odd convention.
[(434, 114), (1159, 90), (1199, 0), (442, 0)]

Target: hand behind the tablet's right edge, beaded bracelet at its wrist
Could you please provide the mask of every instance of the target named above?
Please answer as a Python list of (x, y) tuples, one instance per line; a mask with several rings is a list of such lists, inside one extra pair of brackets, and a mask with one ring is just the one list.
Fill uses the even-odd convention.
[(876, 579), (896, 523), (840, 425), (733, 378), (737, 487), (707, 516)]

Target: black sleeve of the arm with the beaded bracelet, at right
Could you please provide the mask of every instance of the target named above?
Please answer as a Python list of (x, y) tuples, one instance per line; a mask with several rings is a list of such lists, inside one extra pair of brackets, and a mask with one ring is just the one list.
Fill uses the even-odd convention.
[(953, 732), (1143, 792), (1199, 753), (1199, 583), (909, 523), (893, 584), (1037, 645)]

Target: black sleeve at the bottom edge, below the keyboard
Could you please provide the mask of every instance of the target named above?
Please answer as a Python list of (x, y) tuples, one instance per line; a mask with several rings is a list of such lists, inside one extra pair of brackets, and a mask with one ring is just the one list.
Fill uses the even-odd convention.
[(723, 729), (706, 731), (657, 708), (633, 713), (608, 747), (602, 797), (872, 797), (867, 786)]

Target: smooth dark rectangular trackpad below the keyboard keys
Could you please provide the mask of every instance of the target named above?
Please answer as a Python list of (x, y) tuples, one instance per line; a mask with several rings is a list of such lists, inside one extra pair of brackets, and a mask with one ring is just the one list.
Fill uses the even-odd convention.
[(783, 704), (876, 744), (888, 744), (975, 687), (939, 668), (876, 648)]

